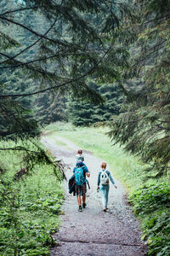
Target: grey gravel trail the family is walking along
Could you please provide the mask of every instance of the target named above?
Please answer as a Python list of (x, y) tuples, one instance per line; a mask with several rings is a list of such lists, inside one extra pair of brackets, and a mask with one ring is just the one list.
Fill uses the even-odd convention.
[[(54, 156), (64, 160), (65, 164), (71, 167), (71, 170), (66, 173), (69, 178), (75, 165), (78, 148), (65, 138), (56, 138), (65, 143), (67, 147), (57, 146), (54, 140), (48, 137), (42, 137), (42, 143)], [(68, 193), (67, 182), (64, 182), (65, 203), (62, 211), (65, 215), (61, 216), (62, 224), (59, 227), (59, 233), (54, 235), (59, 245), (51, 250), (51, 255), (146, 255), (147, 248), (144, 242), (140, 241), (139, 222), (127, 205), (121, 183), (114, 178), (117, 189), (112, 184), (110, 185), (109, 211), (103, 212), (101, 195), (96, 192), (99, 166), (102, 160), (85, 150), (83, 154), (85, 164), (91, 172), (91, 177), (88, 178), (91, 189), (87, 192), (87, 208), (82, 212), (77, 211), (77, 198)]]

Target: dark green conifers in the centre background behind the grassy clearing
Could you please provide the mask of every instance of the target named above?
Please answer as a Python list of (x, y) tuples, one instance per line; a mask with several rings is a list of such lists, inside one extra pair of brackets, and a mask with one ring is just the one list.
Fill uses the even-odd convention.
[(91, 86), (104, 98), (104, 103), (95, 105), (90, 102), (70, 98), (66, 104), (66, 117), (73, 125), (92, 125), (108, 121), (119, 113), (122, 103), (122, 90), (116, 84)]

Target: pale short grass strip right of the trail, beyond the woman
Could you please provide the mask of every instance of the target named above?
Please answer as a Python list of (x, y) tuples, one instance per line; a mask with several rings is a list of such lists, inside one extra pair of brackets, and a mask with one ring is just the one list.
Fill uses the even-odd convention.
[(65, 137), (82, 150), (89, 150), (101, 160), (105, 160), (113, 176), (120, 179), (127, 189), (135, 189), (143, 183), (144, 166), (138, 158), (125, 154), (119, 145), (113, 145), (111, 139), (105, 135), (108, 131), (106, 127), (77, 128), (65, 123), (55, 123), (48, 125), (47, 130), (51, 131), (53, 136)]

